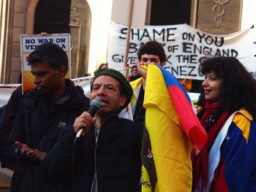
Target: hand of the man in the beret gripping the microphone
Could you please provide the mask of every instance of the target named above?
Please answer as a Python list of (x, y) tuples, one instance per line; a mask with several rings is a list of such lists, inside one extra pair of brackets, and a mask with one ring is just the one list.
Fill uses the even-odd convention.
[(89, 112), (83, 112), (78, 118), (75, 118), (74, 123), (74, 131), (78, 133), (80, 128), (83, 128), (83, 132), (81, 137), (85, 137), (86, 134), (90, 131), (91, 125), (94, 124), (96, 118), (91, 118), (91, 114)]

